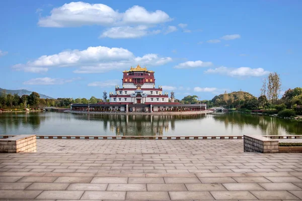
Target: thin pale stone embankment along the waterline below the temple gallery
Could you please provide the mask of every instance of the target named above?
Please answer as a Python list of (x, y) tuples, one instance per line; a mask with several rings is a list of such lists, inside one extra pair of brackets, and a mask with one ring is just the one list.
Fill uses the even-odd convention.
[(198, 112), (154, 112), (154, 113), (141, 113), (141, 112), (75, 112), (75, 111), (64, 111), (64, 113), (71, 114), (108, 114), (108, 115), (190, 115), (190, 114), (207, 114), (213, 111), (198, 111)]

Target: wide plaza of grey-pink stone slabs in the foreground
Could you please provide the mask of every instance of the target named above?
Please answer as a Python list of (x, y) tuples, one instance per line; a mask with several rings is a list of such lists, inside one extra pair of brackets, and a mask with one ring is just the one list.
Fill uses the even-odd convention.
[(302, 154), (244, 153), (243, 140), (37, 144), (0, 155), (0, 200), (302, 199)]

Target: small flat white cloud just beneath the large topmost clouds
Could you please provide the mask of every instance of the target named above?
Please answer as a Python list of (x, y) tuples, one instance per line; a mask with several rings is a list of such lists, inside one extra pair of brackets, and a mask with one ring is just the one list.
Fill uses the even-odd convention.
[(112, 27), (104, 31), (101, 37), (108, 38), (138, 38), (147, 35), (147, 26), (137, 27)]

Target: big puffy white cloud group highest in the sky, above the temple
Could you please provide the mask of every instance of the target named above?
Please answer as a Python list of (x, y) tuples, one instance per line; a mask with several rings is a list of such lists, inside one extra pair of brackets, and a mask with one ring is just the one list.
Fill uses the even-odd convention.
[(175, 26), (158, 27), (172, 20), (163, 11), (149, 12), (140, 6), (133, 6), (121, 13), (104, 4), (71, 2), (52, 9), (49, 16), (40, 17), (38, 25), (58, 28), (98, 25), (105, 27), (100, 37), (116, 39), (174, 32), (177, 30)]

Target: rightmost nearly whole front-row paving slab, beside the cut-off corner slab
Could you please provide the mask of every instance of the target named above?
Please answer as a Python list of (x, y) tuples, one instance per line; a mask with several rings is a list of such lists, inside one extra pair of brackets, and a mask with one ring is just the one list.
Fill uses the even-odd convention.
[(258, 199), (298, 199), (296, 196), (285, 190), (271, 191), (250, 191)]

